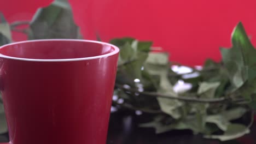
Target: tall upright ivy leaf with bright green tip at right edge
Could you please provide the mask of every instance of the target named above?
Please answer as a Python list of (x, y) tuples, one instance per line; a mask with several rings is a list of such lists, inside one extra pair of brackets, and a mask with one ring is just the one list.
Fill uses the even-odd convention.
[[(232, 32), (231, 49), (220, 49), (222, 61), (228, 70), (230, 80), (235, 89), (239, 88), (247, 80), (249, 82), (256, 77), (255, 71), (256, 50), (247, 37), (242, 23), (239, 22)], [(253, 70), (252, 70), (253, 69)]]

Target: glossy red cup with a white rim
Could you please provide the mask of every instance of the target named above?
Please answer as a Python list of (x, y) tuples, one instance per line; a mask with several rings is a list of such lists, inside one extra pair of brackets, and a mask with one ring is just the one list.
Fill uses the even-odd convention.
[(45, 39), (0, 47), (12, 144), (106, 143), (118, 47)]

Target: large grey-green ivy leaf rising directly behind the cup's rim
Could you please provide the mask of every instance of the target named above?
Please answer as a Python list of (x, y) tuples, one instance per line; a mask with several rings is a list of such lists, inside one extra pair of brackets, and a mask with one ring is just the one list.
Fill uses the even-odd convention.
[(30, 23), (29, 39), (78, 39), (79, 27), (75, 25), (67, 1), (54, 1), (39, 8)]

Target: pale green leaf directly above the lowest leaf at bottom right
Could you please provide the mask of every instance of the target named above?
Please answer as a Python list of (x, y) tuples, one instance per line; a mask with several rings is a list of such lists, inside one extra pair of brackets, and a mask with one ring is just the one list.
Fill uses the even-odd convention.
[(219, 129), (226, 131), (231, 120), (242, 117), (246, 112), (247, 110), (243, 107), (235, 107), (216, 115), (208, 115), (206, 117), (206, 122), (214, 123), (219, 127)]

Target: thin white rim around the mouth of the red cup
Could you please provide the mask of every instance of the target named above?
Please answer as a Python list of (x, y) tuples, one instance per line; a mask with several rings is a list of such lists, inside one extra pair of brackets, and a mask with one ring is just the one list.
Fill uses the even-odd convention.
[(6, 46), (11, 46), (11, 45), (16, 45), (16, 44), (23, 44), (23, 43), (33, 43), (37, 41), (80, 41), (80, 42), (86, 42), (86, 43), (95, 43), (95, 44), (102, 44), (102, 45), (109, 45), (114, 48), (114, 51), (109, 52), (104, 55), (98, 55), (94, 57), (83, 57), (83, 58), (67, 58), (67, 59), (33, 59), (33, 58), (19, 58), (19, 57), (11, 57), (11, 56), (6, 56), (0, 53), (0, 57), (2, 58), (8, 58), (8, 59), (15, 59), (19, 61), (34, 61), (34, 62), (71, 62), (71, 61), (84, 61), (84, 60), (89, 60), (89, 59), (98, 59), (98, 58), (103, 58), (103, 57), (109, 57), (112, 55), (115, 55), (116, 53), (119, 52), (119, 49), (117, 46), (109, 44), (109, 43), (104, 43), (101, 41), (95, 41), (95, 40), (83, 40), (83, 39), (39, 39), (39, 40), (25, 40), (25, 41), (19, 41), (15, 43), (10, 43), (6, 44), (3, 46), (0, 46), (0, 49), (6, 47)]

